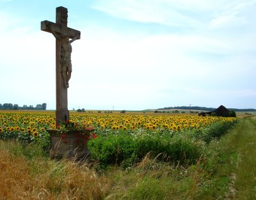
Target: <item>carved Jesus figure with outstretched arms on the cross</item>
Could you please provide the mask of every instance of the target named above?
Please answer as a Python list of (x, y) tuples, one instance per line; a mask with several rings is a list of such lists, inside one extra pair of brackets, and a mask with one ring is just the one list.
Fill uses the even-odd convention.
[(71, 43), (75, 41), (79, 37), (79, 33), (77, 35), (69, 40), (69, 35), (68, 34), (61, 34), (58, 35), (56, 34), (55, 31), (52, 30), (51, 24), (47, 24), (49, 29), (51, 30), (52, 34), (54, 37), (58, 40), (61, 41), (61, 54), (60, 54), (60, 65), (61, 69), (60, 72), (62, 73), (63, 80), (65, 83), (65, 87), (69, 87), (68, 81), (71, 78), (71, 73), (72, 73), (72, 63), (71, 63), (71, 53), (72, 53), (72, 46)]

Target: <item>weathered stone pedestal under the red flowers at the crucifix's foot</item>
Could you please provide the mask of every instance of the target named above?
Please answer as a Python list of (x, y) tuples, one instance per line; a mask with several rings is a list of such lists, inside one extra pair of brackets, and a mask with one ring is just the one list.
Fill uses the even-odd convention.
[[(88, 130), (93, 131), (93, 129)], [(77, 131), (47, 130), (51, 136), (50, 155), (55, 158), (86, 159), (90, 156), (87, 139)]]

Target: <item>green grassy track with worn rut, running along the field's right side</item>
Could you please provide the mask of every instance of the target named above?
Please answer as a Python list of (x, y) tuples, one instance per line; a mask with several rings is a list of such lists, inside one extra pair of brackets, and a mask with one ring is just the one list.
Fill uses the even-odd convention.
[(235, 129), (209, 146), (209, 180), (195, 197), (201, 199), (256, 199), (256, 120), (243, 118)]

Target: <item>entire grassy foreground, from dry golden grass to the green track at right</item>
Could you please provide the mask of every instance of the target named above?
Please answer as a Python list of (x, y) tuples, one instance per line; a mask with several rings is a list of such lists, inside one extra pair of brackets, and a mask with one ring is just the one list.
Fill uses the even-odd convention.
[(194, 164), (147, 154), (125, 170), (97, 171), (97, 164), (55, 161), (38, 146), (0, 141), (0, 199), (255, 199), (255, 127), (255, 119), (241, 119)]

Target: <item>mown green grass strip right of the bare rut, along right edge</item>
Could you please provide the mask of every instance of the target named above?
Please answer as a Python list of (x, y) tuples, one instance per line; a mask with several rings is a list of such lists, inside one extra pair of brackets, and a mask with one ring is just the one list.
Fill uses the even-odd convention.
[(234, 146), (239, 153), (234, 173), (237, 199), (256, 199), (256, 120), (248, 118), (237, 127)]

